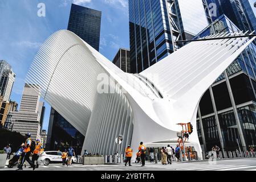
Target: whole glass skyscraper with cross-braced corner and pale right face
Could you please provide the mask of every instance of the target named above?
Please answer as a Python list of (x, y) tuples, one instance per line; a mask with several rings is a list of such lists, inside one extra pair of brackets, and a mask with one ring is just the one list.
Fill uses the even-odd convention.
[(131, 73), (140, 73), (208, 25), (201, 0), (129, 0)]

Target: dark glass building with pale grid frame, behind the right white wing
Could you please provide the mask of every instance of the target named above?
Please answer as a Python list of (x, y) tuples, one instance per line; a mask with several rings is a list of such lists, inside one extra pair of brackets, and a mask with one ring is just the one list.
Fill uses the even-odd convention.
[[(237, 32), (222, 15), (196, 36)], [(217, 144), (226, 155), (256, 146), (256, 46), (251, 43), (202, 96), (197, 132), (203, 151)]]

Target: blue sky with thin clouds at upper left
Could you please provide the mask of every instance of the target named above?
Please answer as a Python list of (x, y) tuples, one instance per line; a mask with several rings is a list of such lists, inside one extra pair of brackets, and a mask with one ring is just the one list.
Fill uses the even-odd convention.
[[(46, 5), (39, 17), (38, 3)], [(55, 31), (67, 29), (71, 3), (102, 11), (100, 53), (112, 60), (120, 47), (129, 48), (128, 0), (1, 0), (0, 60), (12, 65), (17, 78), (11, 100), (21, 103), (26, 73), (40, 45)], [(48, 130), (46, 104), (43, 129)]]

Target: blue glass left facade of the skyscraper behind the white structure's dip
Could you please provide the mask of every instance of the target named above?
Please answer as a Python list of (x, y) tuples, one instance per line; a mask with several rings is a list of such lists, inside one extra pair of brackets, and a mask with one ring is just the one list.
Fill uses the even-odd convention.
[(129, 32), (131, 73), (140, 73), (173, 52), (165, 1), (129, 0)]

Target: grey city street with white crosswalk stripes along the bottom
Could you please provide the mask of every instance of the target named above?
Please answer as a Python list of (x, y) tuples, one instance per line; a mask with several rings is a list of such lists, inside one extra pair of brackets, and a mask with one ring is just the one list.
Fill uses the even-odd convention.
[[(3, 168), (0, 171), (15, 171), (17, 168)], [(132, 164), (132, 167), (125, 167), (121, 164), (105, 165), (82, 165), (72, 164), (71, 167), (62, 166), (62, 164), (49, 164), (48, 166), (39, 166), (36, 171), (256, 171), (256, 159), (229, 159), (217, 160), (216, 164), (208, 161), (185, 162), (163, 166), (161, 163), (146, 163), (145, 167), (140, 164)], [(23, 168), (23, 171), (32, 171), (31, 168)]]

